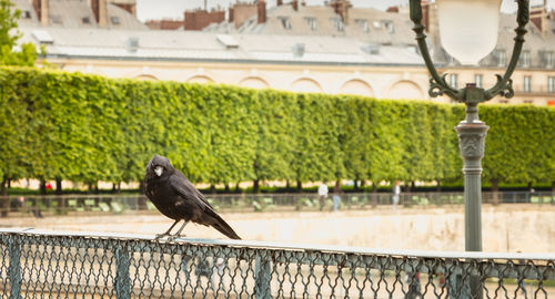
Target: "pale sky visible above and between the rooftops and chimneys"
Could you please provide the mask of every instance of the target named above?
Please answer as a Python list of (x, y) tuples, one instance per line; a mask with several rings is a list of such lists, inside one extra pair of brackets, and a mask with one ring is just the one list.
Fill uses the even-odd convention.
[[(226, 9), (231, 3), (236, 0), (206, 0), (208, 8), (221, 7)], [(243, 2), (252, 0), (243, 0)], [(276, 0), (265, 0), (268, 7), (274, 7)], [(321, 6), (326, 0), (305, 0), (307, 6)], [(531, 4), (541, 4), (544, 0), (531, 0)], [(546, 0), (547, 6), (555, 10), (555, 0)], [(283, 0), (289, 3), (290, 0)], [(407, 4), (408, 0), (351, 0), (354, 7), (361, 8), (376, 8), (385, 10), (389, 7)], [(204, 0), (137, 0), (137, 17), (141, 21), (158, 20), (158, 19), (183, 19), (185, 10), (195, 8), (203, 8)], [(503, 0), (502, 10), (512, 12), (516, 10), (514, 0)]]

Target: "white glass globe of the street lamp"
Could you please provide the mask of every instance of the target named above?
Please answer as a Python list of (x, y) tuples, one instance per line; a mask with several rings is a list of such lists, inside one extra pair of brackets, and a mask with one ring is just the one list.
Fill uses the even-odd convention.
[(497, 43), (502, 0), (436, 0), (443, 48), (463, 65), (476, 65)]

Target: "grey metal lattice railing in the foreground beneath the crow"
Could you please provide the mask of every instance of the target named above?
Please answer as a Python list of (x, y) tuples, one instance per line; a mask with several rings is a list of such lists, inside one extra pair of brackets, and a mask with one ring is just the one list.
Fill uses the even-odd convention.
[(554, 298), (555, 255), (0, 229), (0, 298)]

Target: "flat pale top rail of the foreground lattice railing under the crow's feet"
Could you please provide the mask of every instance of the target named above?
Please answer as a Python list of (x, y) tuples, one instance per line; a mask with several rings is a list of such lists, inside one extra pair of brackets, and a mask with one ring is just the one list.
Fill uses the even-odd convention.
[[(101, 231), (61, 231), (34, 228), (0, 228), (0, 234), (14, 234), (28, 236), (47, 237), (78, 237), (78, 238), (101, 238), (101, 239), (127, 239), (153, 241), (153, 235), (101, 233)], [(511, 260), (546, 260), (554, 261), (554, 252), (517, 254), (517, 252), (471, 252), (471, 251), (435, 251), (435, 250), (405, 250), (386, 248), (364, 248), (350, 246), (297, 244), (297, 243), (275, 243), (258, 240), (229, 240), (229, 239), (202, 239), (202, 238), (176, 238), (174, 243), (223, 246), (223, 247), (246, 247), (270, 250), (296, 250), (296, 251), (323, 251), (337, 254), (357, 254), (372, 256), (404, 256), (414, 258), (445, 258), (445, 259), (511, 259)]]

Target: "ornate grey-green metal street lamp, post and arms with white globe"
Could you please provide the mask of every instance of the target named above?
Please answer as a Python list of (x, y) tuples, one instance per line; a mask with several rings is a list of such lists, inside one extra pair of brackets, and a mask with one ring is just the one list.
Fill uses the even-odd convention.
[[(464, 161), (464, 202), (465, 202), (465, 249), (466, 251), (482, 250), (482, 157), (487, 130), (485, 123), (478, 118), (477, 105), (502, 95), (513, 97), (513, 81), (511, 75), (516, 68), (526, 34), (525, 25), (529, 20), (528, 0), (516, 0), (518, 11), (516, 22), (516, 38), (513, 54), (503, 76), (497, 76), (497, 83), (484, 90), (475, 84), (466, 84), (464, 89), (450, 86), (445, 76), (440, 75), (430, 56), (422, 24), (421, 0), (410, 0), (411, 20), (416, 41), (432, 78), (430, 79), (430, 96), (447, 95), (454, 101), (466, 104), (466, 118), (456, 127), (460, 138), (461, 156)], [(444, 49), (462, 64), (476, 65), (487, 55), (497, 41), (498, 16), (501, 0), (436, 0), (438, 9), (440, 35)], [(468, 14), (470, 13), (470, 14)]]

